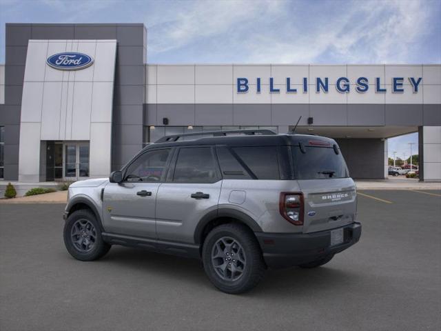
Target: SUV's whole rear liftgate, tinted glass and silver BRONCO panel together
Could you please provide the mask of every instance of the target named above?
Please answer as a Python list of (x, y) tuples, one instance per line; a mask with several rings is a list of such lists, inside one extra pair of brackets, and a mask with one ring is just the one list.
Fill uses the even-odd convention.
[(291, 148), (305, 201), (303, 232), (338, 228), (355, 221), (356, 185), (335, 146)]

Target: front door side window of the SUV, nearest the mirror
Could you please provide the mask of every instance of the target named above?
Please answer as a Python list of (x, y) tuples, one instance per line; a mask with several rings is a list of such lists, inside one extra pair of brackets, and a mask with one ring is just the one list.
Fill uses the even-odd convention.
[(147, 183), (161, 181), (169, 154), (170, 149), (145, 152), (129, 165), (125, 172), (125, 181)]

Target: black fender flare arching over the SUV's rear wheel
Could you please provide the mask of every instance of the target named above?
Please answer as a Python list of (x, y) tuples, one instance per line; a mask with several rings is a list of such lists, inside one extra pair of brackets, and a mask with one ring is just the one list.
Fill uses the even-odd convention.
[(201, 244), (201, 237), (203, 234), (203, 230), (205, 226), (213, 221), (214, 219), (218, 219), (220, 217), (228, 217), (231, 219), (237, 219), (241, 223), (244, 223), (247, 225), (253, 232), (263, 232), (262, 228), (260, 228), (260, 225), (252, 217), (249, 217), (249, 215), (245, 214), (245, 212), (241, 212), (240, 210), (232, 209), (232, 208), (219, 208), (217, 210), (212, 210), (211, 212), (208, 212), (199, 222), (196, 226), (196, 229), (194, 230), (194, 243)]

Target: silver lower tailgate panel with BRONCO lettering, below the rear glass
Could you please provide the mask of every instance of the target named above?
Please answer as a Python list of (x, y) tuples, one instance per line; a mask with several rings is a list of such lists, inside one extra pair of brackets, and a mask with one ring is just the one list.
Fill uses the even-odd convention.
[(303, 232), (338, 228), (356, 219), (356, 185), (351, 178), (298, 180), (304, 194)]

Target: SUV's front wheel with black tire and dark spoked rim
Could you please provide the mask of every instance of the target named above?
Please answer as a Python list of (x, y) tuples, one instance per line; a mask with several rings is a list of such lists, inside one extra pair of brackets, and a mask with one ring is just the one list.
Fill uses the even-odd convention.
[(68, 252), (80, 261), (99, 259), (110, 250), (110, 245), (103, 241), (99, 223), (90, 210), (72, 212), (65, 222), (63, 237)]

